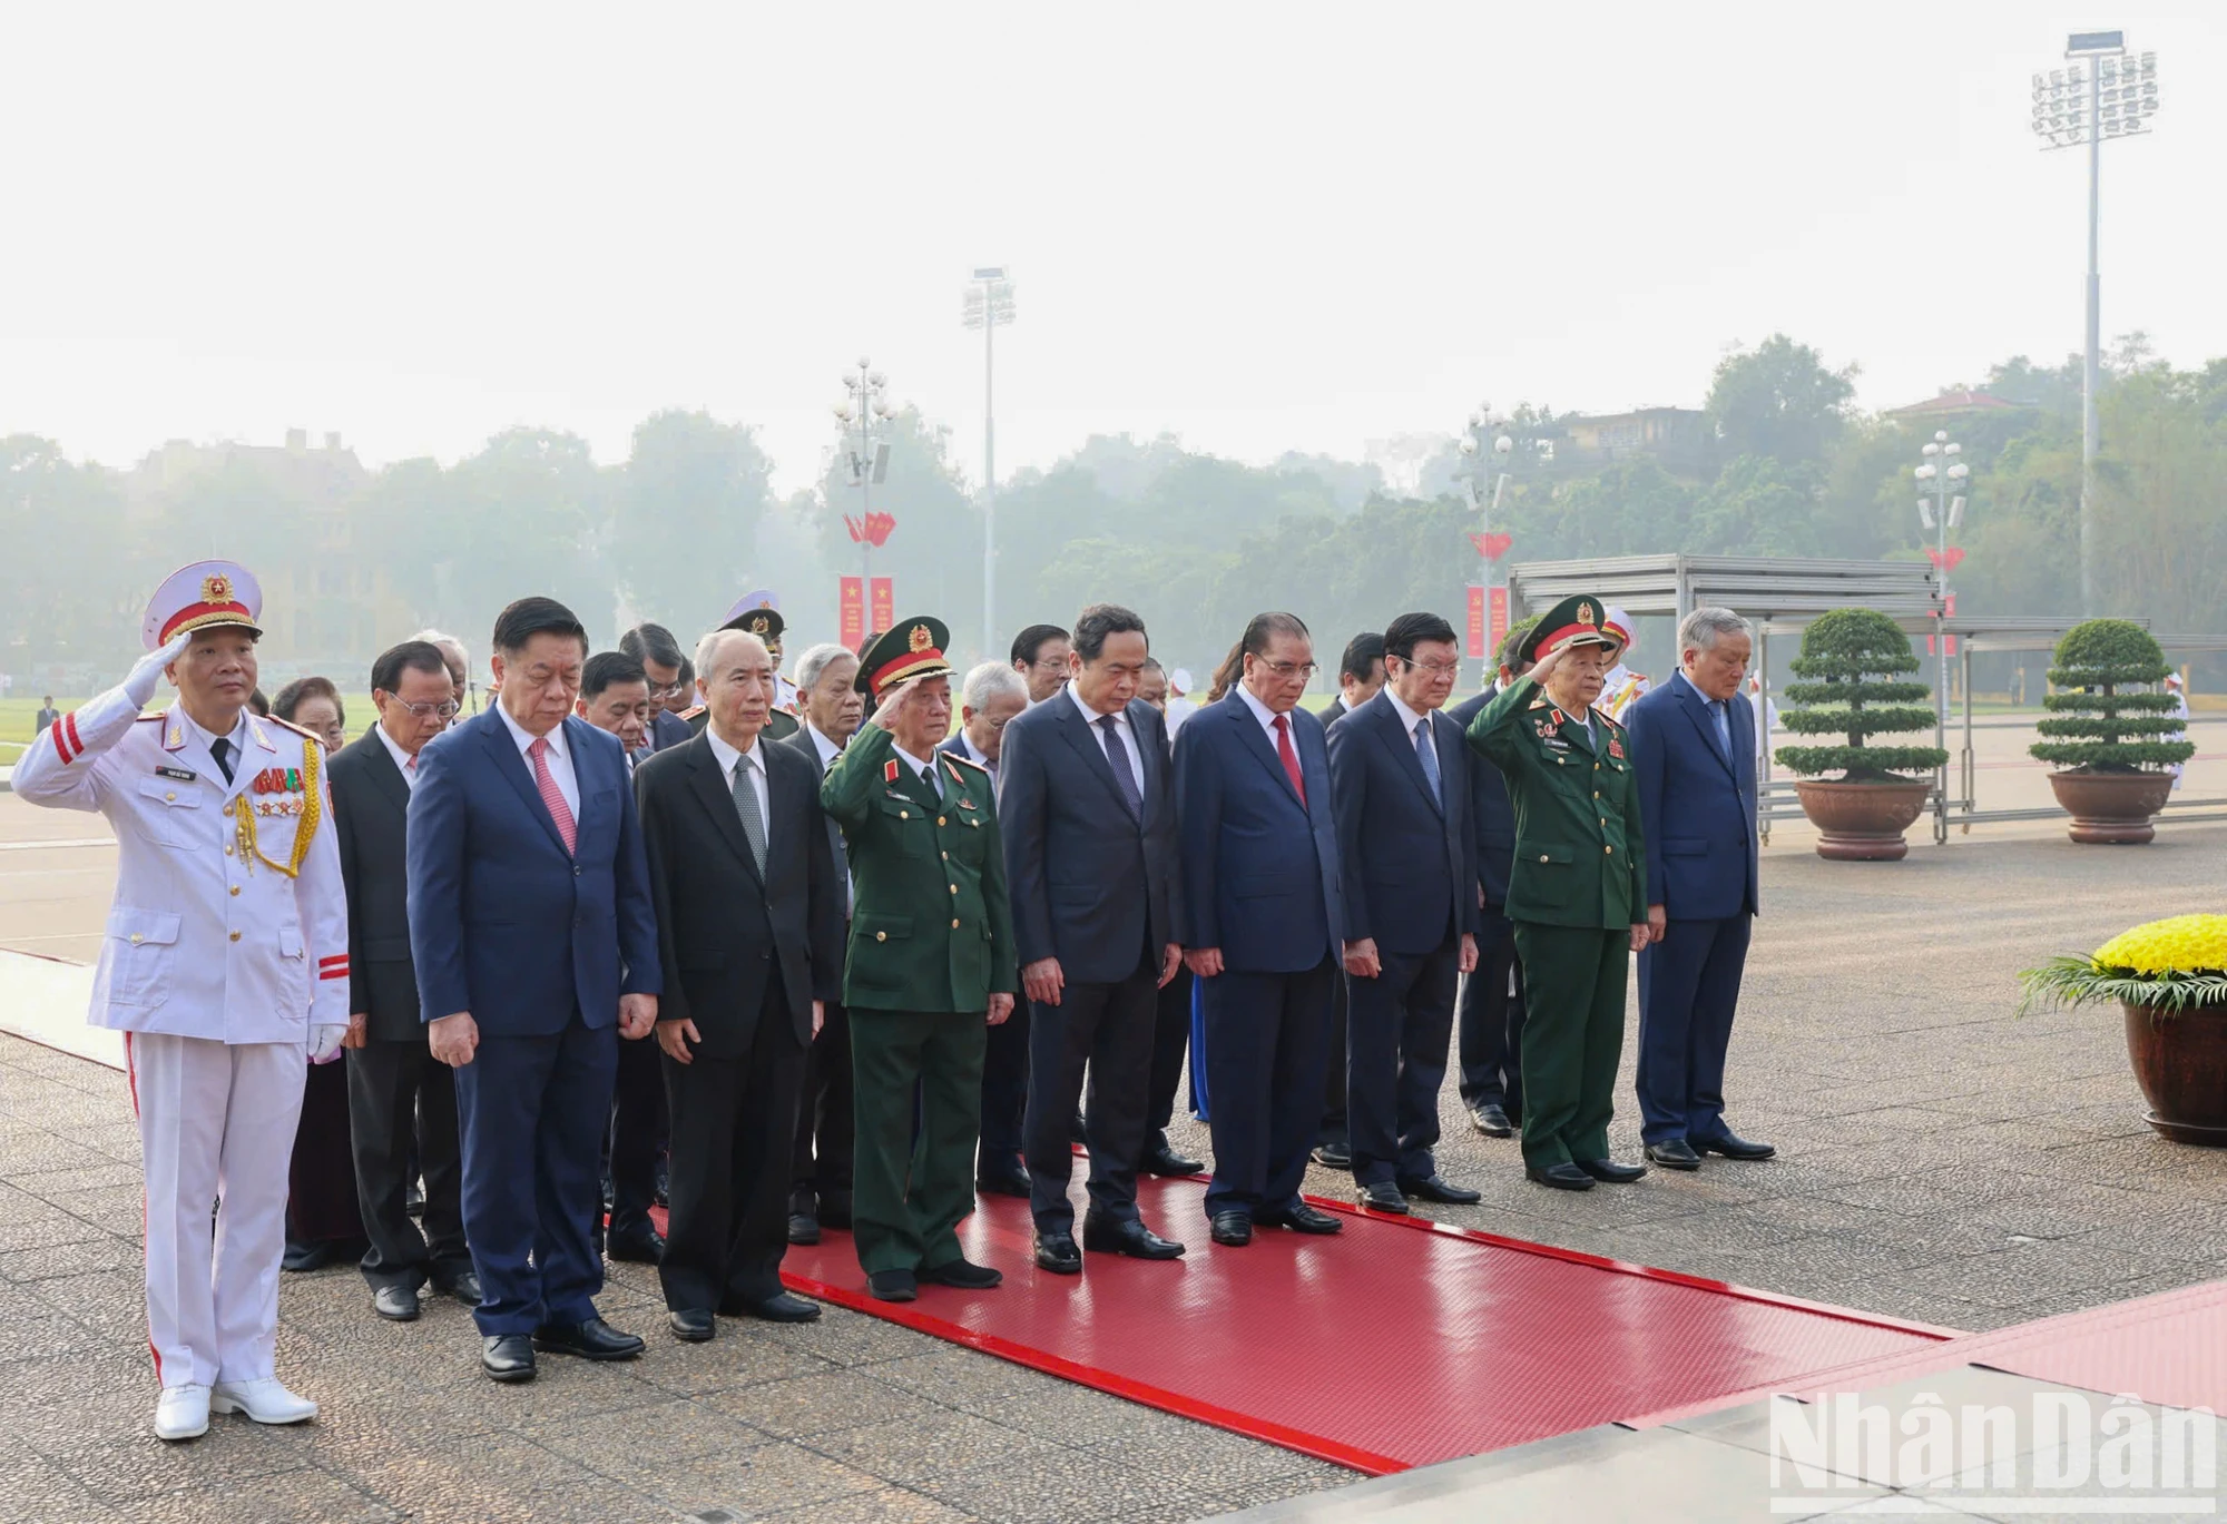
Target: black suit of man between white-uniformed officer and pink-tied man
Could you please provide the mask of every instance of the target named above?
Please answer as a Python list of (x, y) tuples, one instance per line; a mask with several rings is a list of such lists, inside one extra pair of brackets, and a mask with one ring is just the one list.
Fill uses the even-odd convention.
[[(347, 1009), (365, 1016), (347, 1049), (350, 1145), (372, 1286), (448, 1286), (472, 1268), (463, 1241), (457, 1072), (432, 1056), (410, 960), (410, 784), (372, 731), (325, 764), (347, 887)], [(412, 1156), (425, 1176), (425, 1228), (410, 1221)], [(428, 1241), (430, 1239), (430, 1241)]]

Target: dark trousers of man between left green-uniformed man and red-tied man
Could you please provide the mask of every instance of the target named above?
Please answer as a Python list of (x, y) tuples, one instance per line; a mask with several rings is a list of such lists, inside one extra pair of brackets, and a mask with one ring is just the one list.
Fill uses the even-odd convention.
[(1076, 1163), (1069, 1136), (1082, 1065), (1091, 1069), (1082, 1112), (1091, 1212), (1114, 1221), (1136, 1217), (1158, 976), (1151, 958), (1140, 958), (1118, 985), (1067, 985), (1058, 1005), (1029, 1012), (1029, 1212), (1038, 1232), (1067, 1232), (1076, 1223), (1067, 1181)]

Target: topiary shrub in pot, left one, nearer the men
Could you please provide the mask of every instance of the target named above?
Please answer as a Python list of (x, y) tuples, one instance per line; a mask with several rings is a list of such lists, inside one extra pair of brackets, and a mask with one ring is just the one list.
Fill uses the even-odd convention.
[[(1837, 746), (1779, 746), (1779, 766), (1808, 773), (1795, 782), (1802, 813), (1817, 827), (1817, 856), (1840, 862), (1893, 862), (1909, 856), (1902, 833), (1926, 807), (1931, 773), (1949, 760), (1940, 746), (1882, 746), (1880, 735), (1931, 731), (1929, 691), (1909, 682), (1917, 653), (1902, 626), (1873, 608), (1835, 608), (1802, 631), (1802, 655), (1786, 686), (1793, 704), (1779, 724), (1795, 735), (1840, 735)], [(1822, 773), (1840, 773), (1822, 778)]]

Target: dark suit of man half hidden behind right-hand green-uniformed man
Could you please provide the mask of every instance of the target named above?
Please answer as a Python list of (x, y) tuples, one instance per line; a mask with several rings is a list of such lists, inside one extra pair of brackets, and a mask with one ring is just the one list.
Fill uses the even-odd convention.
[[(1445, 711), (1463, 735), (1497, 688)], [(1523, 1121), (1523, 960), (1508, 920), (1508, 869), (1517, 856), (1517, 807), (1508, 780), (1474, 746), (1470, 753), (1470, 836), (1477, 842), (1477, 969), (1461, 983), (1461, 1103), (1497, 1105)]]

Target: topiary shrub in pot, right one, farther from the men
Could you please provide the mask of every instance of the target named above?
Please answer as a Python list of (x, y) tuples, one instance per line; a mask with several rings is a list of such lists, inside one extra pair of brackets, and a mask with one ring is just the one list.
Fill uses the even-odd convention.
[(2129, 619), (2087, 619), (2064, 631), (2042, 700), (2042, 740), (2029, 751), (2056, 762), (2049, 787), (2073, 818), (2076, 842), (2140, 844), (2174, 791), (2171, 769), (2196, 755), (2171, 693), (2145, 693), (2171, 668), (2149, 631)]

